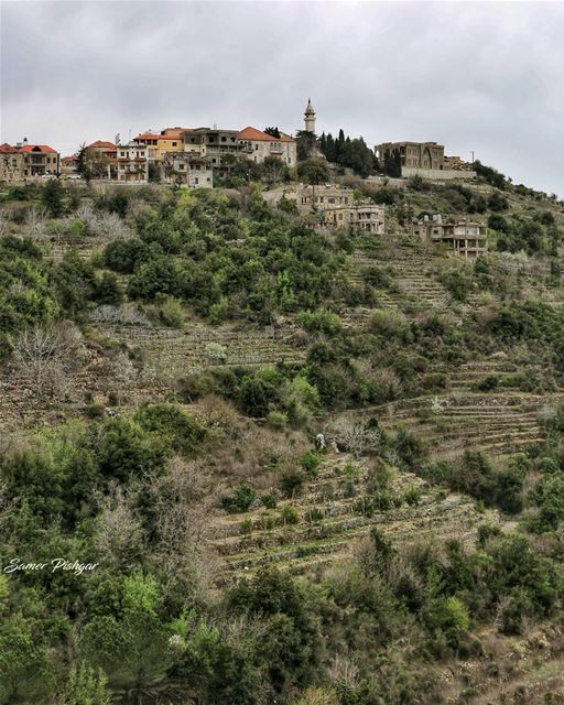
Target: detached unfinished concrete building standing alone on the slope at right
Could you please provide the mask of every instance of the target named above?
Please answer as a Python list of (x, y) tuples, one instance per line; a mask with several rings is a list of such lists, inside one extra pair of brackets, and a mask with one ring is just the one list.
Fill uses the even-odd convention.
[(465, 219), (443, 220), (441, 215), (424, 216), (413, 224), (413, 235), (445, 245), (455, 254), (476, 259), (488, 250), (488, 229), (481, 223)]

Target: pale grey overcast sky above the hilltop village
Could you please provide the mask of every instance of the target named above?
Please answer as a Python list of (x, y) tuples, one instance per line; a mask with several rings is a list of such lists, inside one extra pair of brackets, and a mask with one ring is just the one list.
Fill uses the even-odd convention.
[(564, 197), (564, 2), (0, 3), (0, 143), (213, 127), (435, 141)]

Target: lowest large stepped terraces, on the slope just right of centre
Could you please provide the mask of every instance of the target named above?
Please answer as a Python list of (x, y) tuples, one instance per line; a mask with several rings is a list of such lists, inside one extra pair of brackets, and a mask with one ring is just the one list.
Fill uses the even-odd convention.
[(299, 497), (279, 501), (275, 509), (216, 517), (205, 540), (223, 560), (221, 579), (236, 579), (267, 563), (293, 573), (311, 571), (350, 555), (356, 540), (375, 527), (399, 543), (425, 536), (466, 543), (475, 539), (479, 523), (499, 522), (496, 512), (479, 513), (468, 498), (447, 496), (409, 473), (398, 474), (389, 487), (393, 506), (372, 512), (362, 499), (368, 482), (366, 464), (332, 455)]

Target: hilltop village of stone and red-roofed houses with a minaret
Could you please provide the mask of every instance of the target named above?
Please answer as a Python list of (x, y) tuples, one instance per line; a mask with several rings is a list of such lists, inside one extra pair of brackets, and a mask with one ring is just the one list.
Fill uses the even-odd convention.
[[(369, 150), (364, 141), (337, 139), (315, 132), (316, 113), (308, 99), (304, 129), (291, 137), (278, 128), (242, 130), (164, 128), (148, 130), (127, 144), (97, 140), (70, 156), (46, 144), (0, 145), (0, 183), (26, 184), (48, 178), (95, 185), (140, 186), (149, 183), (186, 188), (232, 185), (237, 177), (268, 183), (269, 203), (295, 204), (303, 215), (315, 216), (322, 229), (359, 228), (384, 232), (384, 207), (355, 196), (352, 188), (335, 183), (335, 173), (359, 173), (367, 180), (425, 178), (436, 183), (475, 180), (470, 164), (446, 156), (436, 142), (386, 142)], [(355, 144), (356, 143), (356, 144)], [(359, 160), (358, 164), (355, 159)], [(349, 163), (338, 153), (350, 153)], [(367, 161), (368, 160), (368, 161)], [(304, 169), (299, 169), (299, 162)], [(305, 164), (304, 164), (305, 163)], [(259, 171), (258, 171), (259, 170)], [(330, 182), (330, 183), (327, 183)], [(446, 218), (445, 218), (446, 216)], [(449, 214), (421, 214), (412, 224), (423, 239), (444, 243), (465, 258), (487, 251), (484, 223), (451, 218)]]

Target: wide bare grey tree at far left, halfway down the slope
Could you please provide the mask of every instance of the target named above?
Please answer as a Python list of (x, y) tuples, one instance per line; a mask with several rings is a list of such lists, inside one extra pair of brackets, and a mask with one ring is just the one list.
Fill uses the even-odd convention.
[(78, 328), (64, 321), (55, 326), (25, 328), (12, 346), (13, 371), (39, 397), (64, 397), (69, 372), (79, 365), (84, 346)]

